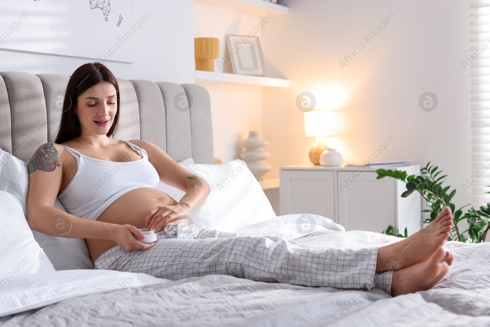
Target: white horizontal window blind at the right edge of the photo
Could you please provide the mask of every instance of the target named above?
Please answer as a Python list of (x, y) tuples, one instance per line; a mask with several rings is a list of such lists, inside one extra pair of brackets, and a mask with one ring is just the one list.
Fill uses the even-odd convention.
[(471, 70), (471, 176), (463, 188), (478, 207), (490, 202), (490, 0), (469, 4), (470, 54), (462, 64)]

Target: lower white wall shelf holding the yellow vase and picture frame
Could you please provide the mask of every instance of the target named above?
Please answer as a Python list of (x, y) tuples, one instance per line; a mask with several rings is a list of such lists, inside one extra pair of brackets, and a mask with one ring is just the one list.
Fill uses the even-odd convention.
[(290, 86), (289, 80), (282, 78), (196, 71), (196, 84), (201, 83), (256, 86), (260, 88)]

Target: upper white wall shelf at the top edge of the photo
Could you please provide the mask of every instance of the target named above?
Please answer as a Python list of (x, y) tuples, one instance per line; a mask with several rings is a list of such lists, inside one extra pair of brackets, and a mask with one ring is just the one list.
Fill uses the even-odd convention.
[(287, 15), (288, 7), (264, 0), (194, 0), (197, 3), (208, 4), (211, 7), (238, 11), (257, 17), (265, 17), (270, 12), (273, 15)]

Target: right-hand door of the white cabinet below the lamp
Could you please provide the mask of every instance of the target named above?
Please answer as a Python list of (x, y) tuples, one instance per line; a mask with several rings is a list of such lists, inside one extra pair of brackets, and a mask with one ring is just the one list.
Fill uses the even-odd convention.
[[(360, 172), (355, 172), (360, 174)], [(381, 233), (395, 226), (395, 179), (376, 179), (376, 172), (337, 172), (339, 224), (345, 230), (368, 230)], [(347, 178), (348, 184), (344, 182)], [(343, 185), (343, 186), (341, 186)]]

